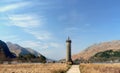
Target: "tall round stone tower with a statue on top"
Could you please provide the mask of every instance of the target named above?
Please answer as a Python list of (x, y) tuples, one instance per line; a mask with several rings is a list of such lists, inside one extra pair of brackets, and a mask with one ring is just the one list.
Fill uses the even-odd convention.
[(71, 43), (72, 41), (70, 40), (70, 38), (68, 37), (68, 39), (66, 40), (66, 63), (67, 64), (72, 64), (72, 59), (71, 59)]

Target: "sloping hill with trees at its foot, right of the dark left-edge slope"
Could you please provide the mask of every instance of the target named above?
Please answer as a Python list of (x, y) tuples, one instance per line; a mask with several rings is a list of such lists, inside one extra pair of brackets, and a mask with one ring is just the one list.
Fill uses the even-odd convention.
[(9, 50), (16, 54), (22, 62), (46, 62), (46, 57), (31, 48), (24, 48), (18, 44), (7, 42)]

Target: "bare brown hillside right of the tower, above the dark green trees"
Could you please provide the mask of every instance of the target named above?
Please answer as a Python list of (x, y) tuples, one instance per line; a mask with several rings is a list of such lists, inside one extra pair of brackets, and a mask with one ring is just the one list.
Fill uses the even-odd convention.
[(120, 50), (120, 40), (118, 41), (111, 41), (111, 42), (103, 42), (100, 44), (94, 44), (88, 48), (86, 48), (84, 51), (73, 55), (72, 59), (76, 60), (76, 59), (80, 59), (83, 58), (85, 60), (88, 60), (90, 57), (92, 57), (93, 55), (95, 55), (98, 52), (103, 52), (106, 50)]

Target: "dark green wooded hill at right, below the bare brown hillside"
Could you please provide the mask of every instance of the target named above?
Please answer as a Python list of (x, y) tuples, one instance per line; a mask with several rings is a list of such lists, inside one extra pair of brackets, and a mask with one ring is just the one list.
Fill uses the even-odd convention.
[(98, 52), (89, 59), (90, 62), (120, 62), (120, 50)]

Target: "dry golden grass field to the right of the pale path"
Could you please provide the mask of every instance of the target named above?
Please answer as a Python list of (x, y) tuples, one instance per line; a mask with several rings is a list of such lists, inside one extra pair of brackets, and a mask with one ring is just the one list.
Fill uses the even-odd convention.
[(80, 64), (81, 73), (120, 73), (120, 64)]

